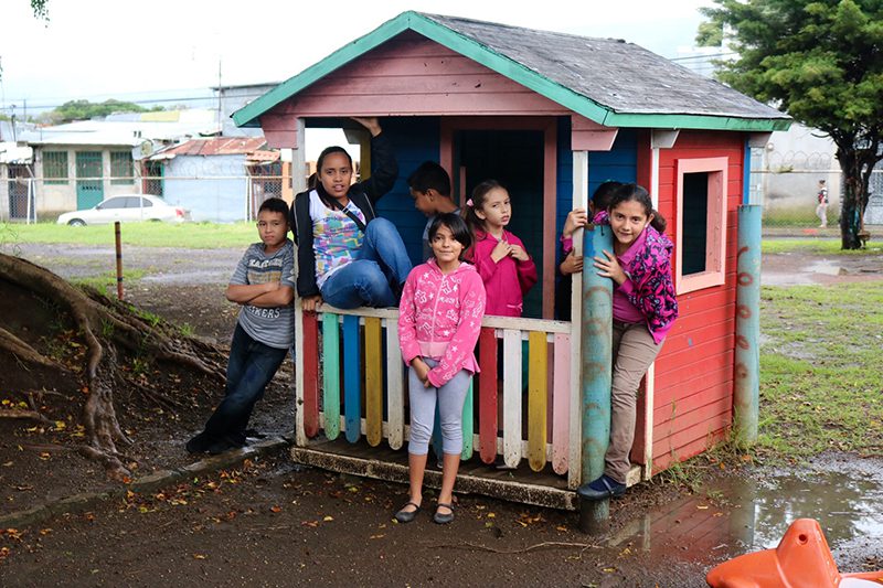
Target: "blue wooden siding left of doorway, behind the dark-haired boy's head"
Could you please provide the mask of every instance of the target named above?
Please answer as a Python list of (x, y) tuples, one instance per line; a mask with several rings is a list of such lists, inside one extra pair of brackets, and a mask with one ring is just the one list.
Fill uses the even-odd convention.
[(422, 264), (423, 229), (426, 217), (414, 207), (407, 178), (424, 161), (438, 161), (438, 117), (393, 117), (383, 120), (383, 131), (390, 133), (398, 161), (395, 188), (377, 203), (377, 213), (395, 223), (407, 254), (414, 265)]

